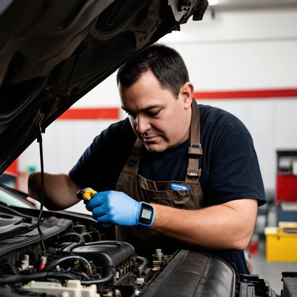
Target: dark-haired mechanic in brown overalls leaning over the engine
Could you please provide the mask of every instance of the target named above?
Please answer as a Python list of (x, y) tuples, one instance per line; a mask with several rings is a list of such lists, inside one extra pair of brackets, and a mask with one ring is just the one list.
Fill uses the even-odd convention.
[[(206, 249), (248, 274), (243, 250), (266, 198), (247, 128), (196, 103), (183, 59), (165, 45), (122, 65), (117, 83), (128, 118), (98, 135), (68, 175), (45, 173), (45, 207), (68, 208), (91, 187), (98, 193), (86, 208), (138, 255)], [(28, 183), (39, 200), (40, 173)], [(137, 227), (139, 201), (154, 208), (149, 228)]]

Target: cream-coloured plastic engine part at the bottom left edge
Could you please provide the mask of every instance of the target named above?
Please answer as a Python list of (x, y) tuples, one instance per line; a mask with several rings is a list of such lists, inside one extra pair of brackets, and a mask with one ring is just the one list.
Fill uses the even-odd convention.
[(69, 297), (100, 297), (97, 293), (97, 286), (90, 285), (88, 287), (82, 286), (80, 280), (69, 279), (65, 286), (55, 282), (35, 282), (32, 280), (27, 285), (21, 288), (23, 291), (34, 293), (47, 293), (63, 296), (67, 292)]

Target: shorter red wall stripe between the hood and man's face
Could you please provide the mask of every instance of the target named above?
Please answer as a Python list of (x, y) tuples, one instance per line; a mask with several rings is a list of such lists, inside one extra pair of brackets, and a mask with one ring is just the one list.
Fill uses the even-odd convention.
[(58, 120), (111, 120), (119, 119), (119, 108), (70, 108)]

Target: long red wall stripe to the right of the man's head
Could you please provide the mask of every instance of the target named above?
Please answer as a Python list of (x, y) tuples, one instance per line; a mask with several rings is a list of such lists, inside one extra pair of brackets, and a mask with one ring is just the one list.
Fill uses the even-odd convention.
[(194, 92), (195, 99), (251, 99), (297, 97), (297, 89)]

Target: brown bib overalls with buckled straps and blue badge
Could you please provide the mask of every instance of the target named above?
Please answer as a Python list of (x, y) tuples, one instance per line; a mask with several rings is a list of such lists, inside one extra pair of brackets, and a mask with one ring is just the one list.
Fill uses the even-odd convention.
[[(116, 191), (124, 192), (137, 201), (147, 203), (158, 203), (181, 209), (198, 209), (202, 207), (203, 195), (199, 184), (201, 169), (198, 169), (199, 157), (202, 155), (200, 113), (195, 99), (192, 102), (191, 146), (189, 147), (189, 165), (185, 181), (150, 181), (138, 175), (141, 151), (142, 143), (137, 138), (128, 161), (119, 176)], [(171, 190), (171, 183), (186, 185), (190, 189)], [(170, 208), (168, 208), (168, 211), (170, 211)], [(149, 229), (141, 230), (137, 227), (116, 225), (116, 239), (129, 242), (134, 246), (138, 255), (146, 257), (151, 256), (155, 249), (162, 249), (165, 255), (170, 255), (177, 249), (189, 248), (188, 245), (161, 233)]]

